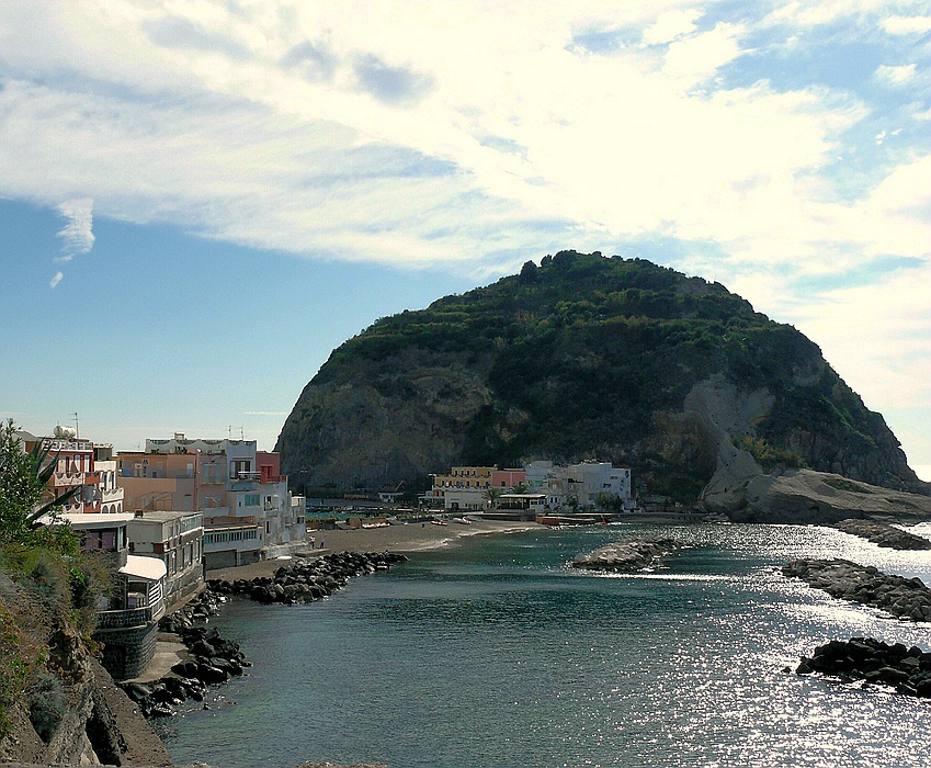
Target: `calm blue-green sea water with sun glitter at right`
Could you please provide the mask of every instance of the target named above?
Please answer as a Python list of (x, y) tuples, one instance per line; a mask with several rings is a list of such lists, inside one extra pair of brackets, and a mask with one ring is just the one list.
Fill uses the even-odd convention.
[[(650, 574), (567, 567), (651, 532), (690, 549)], [(227, 606), (216, 624), (254, 666), (162, 735), (219, 768), (927, 766), (931, 702), (784, 668), (855, 634), (931, 650), (931, 629), (783, 578), (798, 556), (931, 583), (931, 553), (814, 527), (475, 537), (321, 602)]]

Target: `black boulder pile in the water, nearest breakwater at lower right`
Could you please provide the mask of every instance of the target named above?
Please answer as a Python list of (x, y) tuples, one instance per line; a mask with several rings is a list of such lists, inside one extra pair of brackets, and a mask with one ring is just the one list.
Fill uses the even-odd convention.
[(803, 657), (795, 671), (892, 686), (899, 693), (931, 698), (931, 653), (917, 645), (889, 645), (873, 637), (832, 640), (815, 648), (811, 658)]

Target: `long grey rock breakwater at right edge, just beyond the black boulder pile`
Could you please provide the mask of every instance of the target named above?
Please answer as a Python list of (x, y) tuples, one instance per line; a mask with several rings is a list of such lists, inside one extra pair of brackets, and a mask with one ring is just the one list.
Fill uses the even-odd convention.
[(872, 565), (847, 560), (796, 560), (784, 565), (782, 573), (831, 597), (878, 608), (899, 619), (931, 621), (931, 589), (920, 578), (884, 574)]

